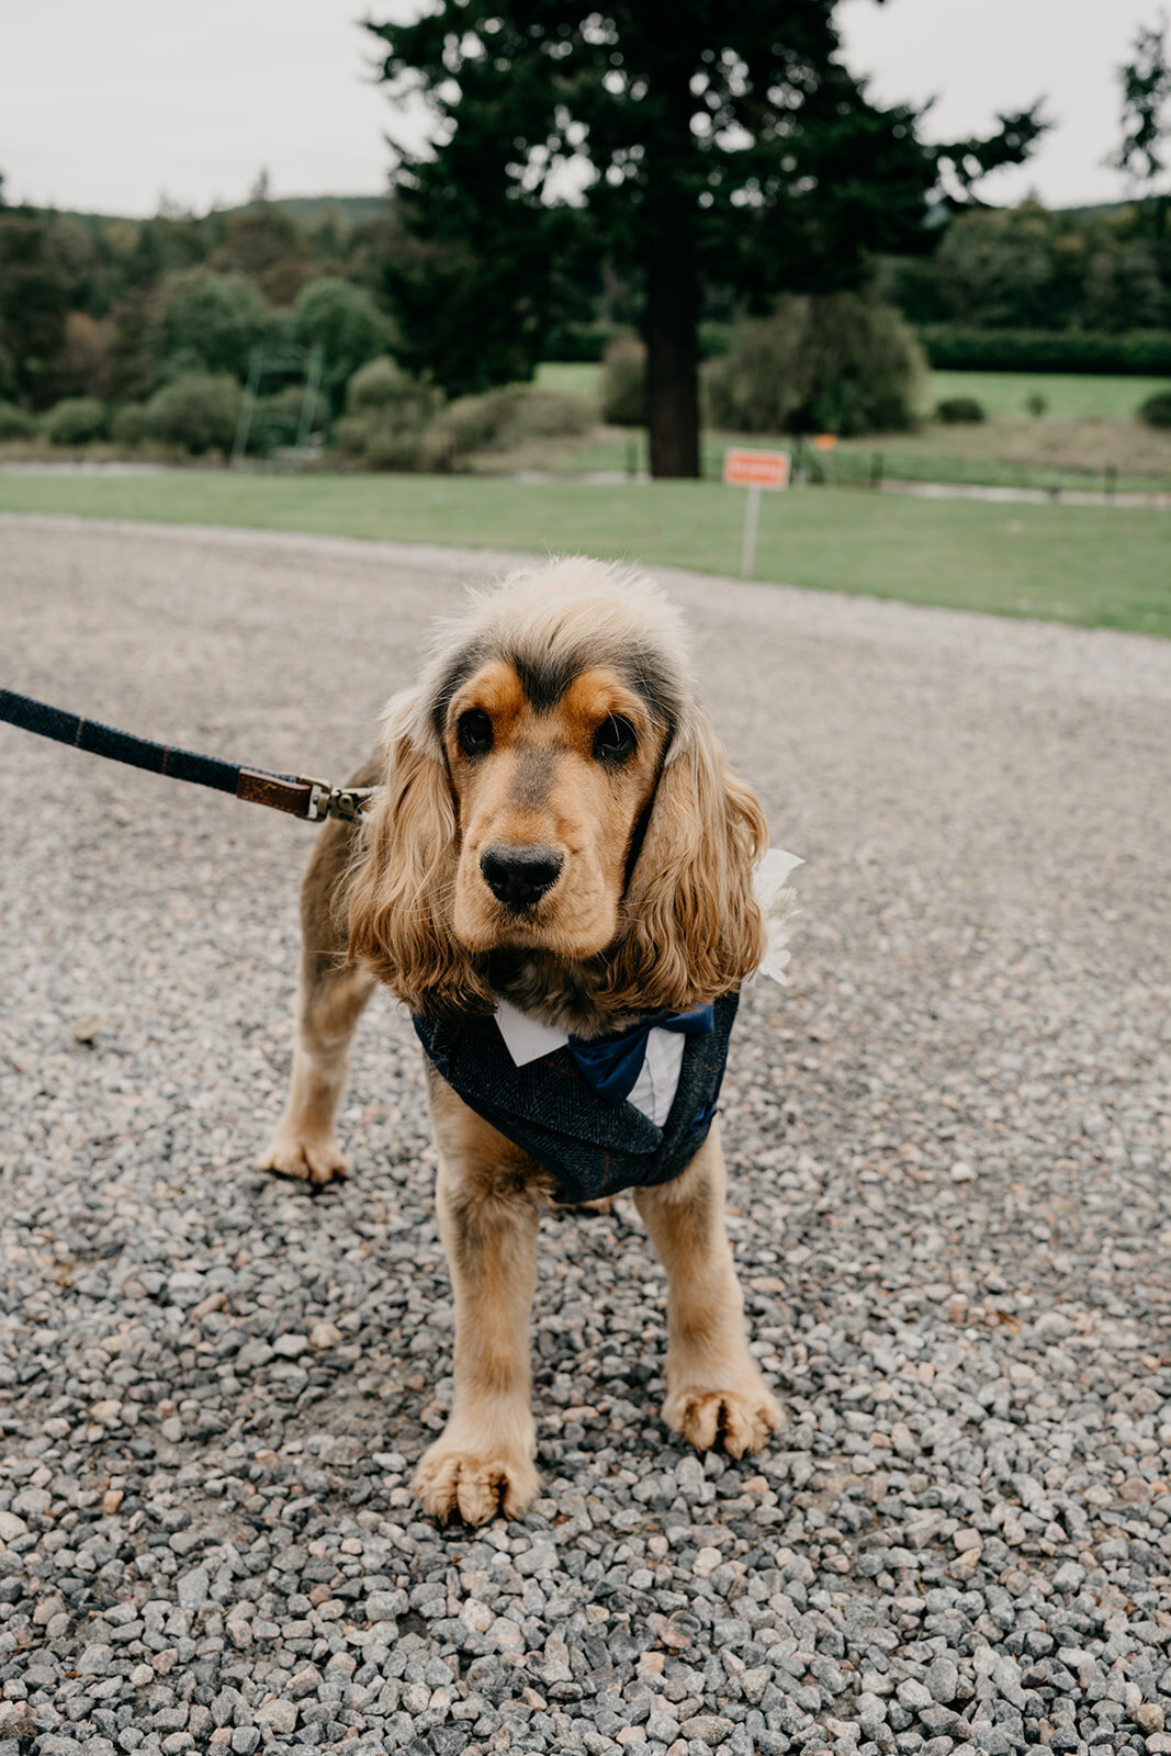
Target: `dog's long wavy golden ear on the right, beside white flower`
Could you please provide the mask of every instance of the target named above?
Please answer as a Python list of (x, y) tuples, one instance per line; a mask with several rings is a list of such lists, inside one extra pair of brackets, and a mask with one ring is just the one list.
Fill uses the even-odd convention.
[(764, 957), (751, 878), (767, 843), (757, 795), (695, 711), (664, 767), (627, 885), (607, 1008), (679, 1011), (741, 985)]

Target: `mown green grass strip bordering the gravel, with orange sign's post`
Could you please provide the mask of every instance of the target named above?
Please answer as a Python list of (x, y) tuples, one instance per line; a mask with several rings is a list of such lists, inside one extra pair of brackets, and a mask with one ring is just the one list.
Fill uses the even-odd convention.
[[(581, 551), (736, 572), (744, 497), (469, 476), (0, 474), (0, 511)], [(1171, 515), (806, 488), (765, 495), (757, 578), (1171, 636)]]

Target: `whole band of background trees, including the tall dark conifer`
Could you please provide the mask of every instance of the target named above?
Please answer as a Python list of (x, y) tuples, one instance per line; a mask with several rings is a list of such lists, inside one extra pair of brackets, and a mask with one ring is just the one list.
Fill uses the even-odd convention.
[(4, 207), (0, 188), (0, 397), (142, 402), (295, 341), (321, 349), (339, 413), (381, 355), (460, 397), (637, 330), (651, 467), (671, 476), (699, 465), (713, 325), (783, 297), (880, 297), (976, 330), (1171, 321), (1160, 30), (1120, 68), (1118, 163), (1143, 198), (1006, 212), (978, 191), (1027, 160), (1041, 104), (929, 144), (922, 112), (844, 67), (836, 4), (679, 0), (664, 30), (637, 0), (437, 0), (372, 25), (392, 98), (421, 95), (432, 139), (395, 148), (388, 200), (356, 225), (298, 223), (263, 188), (140, 223)]

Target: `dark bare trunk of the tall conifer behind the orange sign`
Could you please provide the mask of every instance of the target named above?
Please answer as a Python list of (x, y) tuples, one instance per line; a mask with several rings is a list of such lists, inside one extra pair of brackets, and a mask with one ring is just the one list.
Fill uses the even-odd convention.
[(646, 428), (651, 476), (699, 476), (699, 277), (686, 221), (646, 258)]

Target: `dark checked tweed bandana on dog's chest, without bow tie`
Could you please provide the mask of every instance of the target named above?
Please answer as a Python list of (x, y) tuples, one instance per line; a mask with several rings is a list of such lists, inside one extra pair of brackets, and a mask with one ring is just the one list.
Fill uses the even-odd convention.
[(686, 1038), (664, 1127), (630, 1103), (599, 1096), (569, 1045), (518, 1068), (495, 1018), (416, 1015), (414, 1029), (469, 1110), (557, 1178), (558, 1201), (600, 1201), (620, 1189), (671, 1182), (692, 1162), (716, 1113), (737, 1004), (737, 994), (725, 994), (715, 1003), (715, 1029)]

